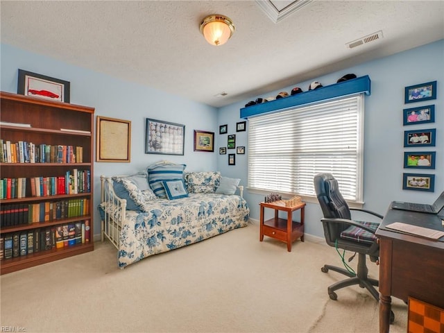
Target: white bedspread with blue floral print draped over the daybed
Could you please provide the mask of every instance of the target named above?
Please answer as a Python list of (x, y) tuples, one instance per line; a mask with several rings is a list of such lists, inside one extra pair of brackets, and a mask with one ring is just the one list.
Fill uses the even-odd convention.
[(246, 200), (237, 195), (189, 194), (187, 198), (157, 199), (150, 204), (149, 212), (126, 212), (120, 232), (119, 267), (245, 227), (250, 215)]

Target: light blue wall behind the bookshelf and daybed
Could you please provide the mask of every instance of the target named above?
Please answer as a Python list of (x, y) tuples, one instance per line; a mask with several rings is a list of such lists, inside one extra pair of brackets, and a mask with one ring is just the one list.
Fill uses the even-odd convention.
[[(99, 204), (102, 174), (135, 173), (161, 160), (185, 163), (187, 171), (217, 169), (215, 154), (194, 151), (194, 130), (219, 133), (216, 108), (1, 44), (1, 91), (17, 93), (18, 69), (67, 80), (71, 103), (95, 108), (96, 116), (131, 121), (131, 162), (94, 163), (94, 207)], [(185, 155), (145, 154), (146, 118), (184, 124)], [(94, 234), (99, 233), (99, 214), (94, 210)]]

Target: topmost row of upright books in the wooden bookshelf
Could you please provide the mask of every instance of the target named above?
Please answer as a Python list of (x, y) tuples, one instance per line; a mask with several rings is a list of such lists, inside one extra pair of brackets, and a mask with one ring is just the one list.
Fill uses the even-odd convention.
[(83, 163), (82, 146), (33, 144), (0, 139), (0, 162), (4, 163)]

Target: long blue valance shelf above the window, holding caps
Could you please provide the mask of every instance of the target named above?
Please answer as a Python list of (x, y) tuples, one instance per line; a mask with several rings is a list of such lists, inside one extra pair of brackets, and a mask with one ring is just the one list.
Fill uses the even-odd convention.
[(284, 97), (283, 99), (276, 99), (275, 101), (241, 108), (241, 118), (247, 119), (248, 117), (256, 116), (257, 114), (294, 108), (299, 105), (326, 101), (327, 99), (334, 99), (336, 97), (359, 94), (362, 92), (370, 95), (370, 78), (368, 75), (340, 83), (334, 83), (333, 85), (327, 85), (315, 90), (301, 92), (300, 94)]

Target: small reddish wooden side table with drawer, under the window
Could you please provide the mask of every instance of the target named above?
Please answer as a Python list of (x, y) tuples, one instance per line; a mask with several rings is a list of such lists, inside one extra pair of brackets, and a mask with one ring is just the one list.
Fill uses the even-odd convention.
[[(260, 237), (259, 241), (264, 240), (264, 235), (284, 241), (287, 243), (287, 250), (291, 252), (291, 243), (300, 238), (304, 241), (304, 214), (305, 203), (300, 203), (293, 207), (286, 207), (282, 200), (274, 203), (259, 203), (260, 205)], [(273, 219), (264, 221), (264, 209), (271, 208), (275, 210)], [(280, 219), (279, 211), (287, 212), (287, 219)], [(293, 221), (293, 212), (300, 210), (300, 222)]]

